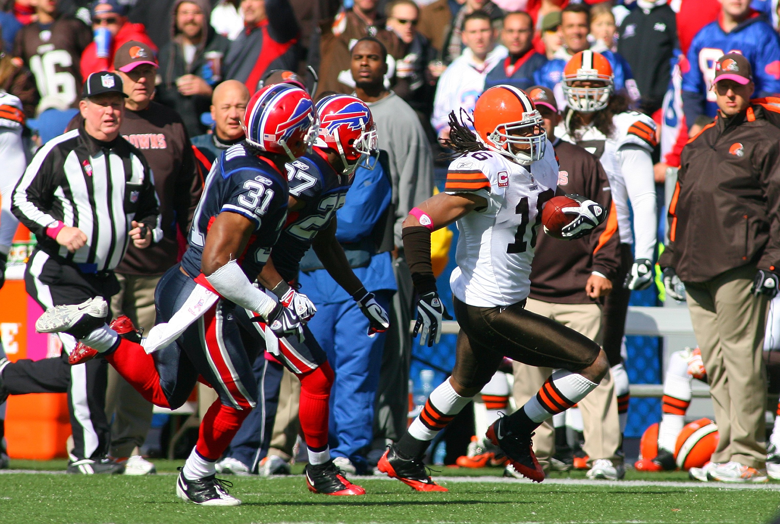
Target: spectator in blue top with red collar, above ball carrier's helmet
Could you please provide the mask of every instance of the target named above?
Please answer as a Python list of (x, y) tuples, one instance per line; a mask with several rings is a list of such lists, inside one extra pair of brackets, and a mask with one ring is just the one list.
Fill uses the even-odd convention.
[(501, 43), (509, 51), (509, 56), (490, 70), (485, 78), (485, 89), (499, 83), (509, 84), (519, 89), (534, 85), (534, 73), (547, 58), (534, 50), (534, 20), (527, 12), (510, 12), (504, 17), (501, 30)]

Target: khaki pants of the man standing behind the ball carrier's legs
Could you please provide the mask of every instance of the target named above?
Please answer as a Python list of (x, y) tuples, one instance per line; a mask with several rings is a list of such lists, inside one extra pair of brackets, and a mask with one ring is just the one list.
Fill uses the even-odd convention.
[[(600, 342), (601, 307), (596, 304), (554, 304), (528, 299), (526, 309), (571, 327), (594, 342)], [(513, 364), (513, 368), (515, 385), (512, 394), (518, 406), (536, 395), (544, 381), (552, 374), (549, 367), (527, 366), (517, 362)], [(608, 373), (601, 384), (577, 405), (583, 415), (583, 451), (590, 457), (589, 462), (597, 458), (622, 462), (617, 453), (620, 445), (620, 424), (612, 373)], [(555, 430), (551, 420), (546, 420), (536, 430), (534, 452), (542, 467), (546, 468), (549, 458), (555, 454)]]

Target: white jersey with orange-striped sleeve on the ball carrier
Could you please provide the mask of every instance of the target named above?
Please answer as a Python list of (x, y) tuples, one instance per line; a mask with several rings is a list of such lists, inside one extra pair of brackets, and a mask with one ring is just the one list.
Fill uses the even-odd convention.
[(491, 151), (456, 158), (449, 165), (445, 192), (472, 193), (488, 207), (458, 224), (456, 262), (449, 284), (470, 306), (509, 306), (527, 298), (531, 260), (541, 228), (541, 207), (555, 197), (558, 162), (552, 144), (528, 167)]

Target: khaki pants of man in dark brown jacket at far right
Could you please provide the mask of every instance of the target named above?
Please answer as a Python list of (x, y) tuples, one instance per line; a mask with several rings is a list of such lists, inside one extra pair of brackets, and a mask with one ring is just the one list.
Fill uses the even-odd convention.
[(763, 468), (767, 458), (762, 358), (768, 299), (750, 288), (756, 267), (737, 267), (704, 283), (685, 282), (720, 441), (713, 462)]

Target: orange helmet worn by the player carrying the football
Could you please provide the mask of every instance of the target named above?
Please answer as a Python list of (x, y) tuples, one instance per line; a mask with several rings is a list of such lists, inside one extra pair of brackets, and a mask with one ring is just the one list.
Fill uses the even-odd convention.
[(474, 107), (474, 129), (489, 150), (519, 165), (544, 157), (544, 120), (534, 102), (516, 87), (500, 85), (486, 90)]

